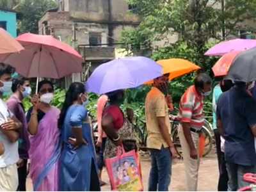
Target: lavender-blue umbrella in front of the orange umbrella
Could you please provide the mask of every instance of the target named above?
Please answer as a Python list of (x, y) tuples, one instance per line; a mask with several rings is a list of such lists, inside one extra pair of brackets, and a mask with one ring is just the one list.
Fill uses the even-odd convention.
[(97, 67), (89, 77), (88, 92), (103, 94), (136, 88), (141, 84), (163, 75), (163, 68), (145, 57), (116, 59)]

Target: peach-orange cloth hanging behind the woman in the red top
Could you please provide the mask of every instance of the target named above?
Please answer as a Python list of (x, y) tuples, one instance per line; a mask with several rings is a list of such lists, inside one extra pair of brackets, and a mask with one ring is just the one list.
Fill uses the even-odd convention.
[(98, 123), (98, 134), (102, 138), (106, 138), (106, 133), (102, 131), (101, 127), (101, 119), (102, 119), (102, 113), (103, 110), (108, 102), (108, 96), (107, 95), (101, 95), (97, 102), (97, 123)]

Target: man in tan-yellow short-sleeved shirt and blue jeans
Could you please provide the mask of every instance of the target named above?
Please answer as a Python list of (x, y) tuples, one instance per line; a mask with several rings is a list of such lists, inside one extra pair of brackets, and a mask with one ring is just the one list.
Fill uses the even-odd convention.
[(171, 126), (166, 102), (171, 100), (166, 94), (168, 76), (166, 74), (154, 79), (154, 87), (148, 92), (145, 102), (147, 147), (151, 156), (148, 191), (168, 191), (171, 182), (175, 148), (170, 136)]

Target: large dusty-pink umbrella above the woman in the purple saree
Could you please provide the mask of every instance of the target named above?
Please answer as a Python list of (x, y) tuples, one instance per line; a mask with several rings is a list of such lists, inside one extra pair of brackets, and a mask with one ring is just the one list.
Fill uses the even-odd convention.
[(17, 40), (25, 49), (0, 57), (0, 61), (12, 65), (24, 77), (60, 79), (83, 70), (82, 56), (52, 36), (25, 33)]

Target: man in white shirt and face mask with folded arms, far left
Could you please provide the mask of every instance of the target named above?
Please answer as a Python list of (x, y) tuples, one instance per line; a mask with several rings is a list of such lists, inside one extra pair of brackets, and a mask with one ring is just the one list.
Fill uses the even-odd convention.
[(16, 191), (19, 180), (16, 163), (19, 161), (18, 139), (22, 124), (8, 110), (1, 99), (3, 93), (10, 93), (14, 68), (0, 63), (0, 191)]

